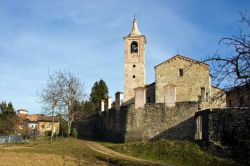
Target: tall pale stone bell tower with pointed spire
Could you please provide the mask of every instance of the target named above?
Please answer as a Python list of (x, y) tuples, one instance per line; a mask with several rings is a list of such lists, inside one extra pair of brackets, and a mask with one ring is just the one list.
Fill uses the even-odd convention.
[(137, 87), (145, 86), (145, 46), (146, 38), (137, 27), (136, 18), (133, 27), (125, 41), (125, 63), (124, 63), (124, 103), (134, 103)]

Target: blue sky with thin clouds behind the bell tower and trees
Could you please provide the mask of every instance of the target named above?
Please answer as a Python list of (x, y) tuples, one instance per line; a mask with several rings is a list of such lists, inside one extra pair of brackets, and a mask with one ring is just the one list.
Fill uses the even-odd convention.
[(249, 0), (0, 0), (0, 101), (41, 112), (37, 92), (55, 70), (79, 77), (87, 94), (104, 79), (114, 98), (123, 91), (123, 37), (135, 13), (151, 83), (153, 67), (176, 53), (213, 55), (248, 8)]

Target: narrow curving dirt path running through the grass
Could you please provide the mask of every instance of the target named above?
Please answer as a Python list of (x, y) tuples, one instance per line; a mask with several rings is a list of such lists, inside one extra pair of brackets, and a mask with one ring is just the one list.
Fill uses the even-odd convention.
[(144, 160), (144, 159), (140, 159), (140, 158), (136, 158), (136, 157), (132, 157), (132, 156), (128, 156), (126, 154), (122, 154), (119, 152), (116, 152), (112, 149), (109, 149), (103, 145), (100, 145), (96, 142), (92, 142), (92, 141), (84, 141), (84, 143), (92, 150), (104, 154), (104, 155), (108, 155), (111, 157), (116, 157), (116, 158), (120, 158), (120, 159), (124, 159), (124, 160), (130, 160), (130, 161), (138, 161), (138, 162), (143, 162), (145, 164), (150, 164), (150, 165), (159, 165), (159, 166), (167, 166), (166, 164), (161, 164), (161, 163), (157, 163), (154, 161), (150, 161), (150, 160)]

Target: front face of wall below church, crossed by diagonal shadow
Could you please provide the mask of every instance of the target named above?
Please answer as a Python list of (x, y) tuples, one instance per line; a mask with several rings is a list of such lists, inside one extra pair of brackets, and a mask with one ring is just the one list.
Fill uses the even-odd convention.
[(166, 108), (164, 104), (146, 104), (145, 109), (128, 110), (125, 141), (157, 139), (193, 139), (196, 102), (176, 103)]

